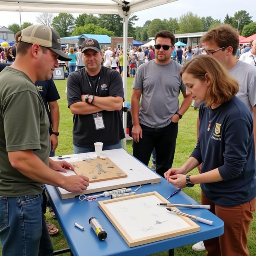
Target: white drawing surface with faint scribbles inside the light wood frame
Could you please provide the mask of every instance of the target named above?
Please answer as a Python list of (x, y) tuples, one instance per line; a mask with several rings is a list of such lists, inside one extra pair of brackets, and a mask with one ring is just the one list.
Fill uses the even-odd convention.
[(190, 227), (176, 213), (166, 210), (166, 207), (158, 206), (160, 202), (155, 195), (150, 195), (111, 202), (105, 204), (105, 207), (132, 240)]

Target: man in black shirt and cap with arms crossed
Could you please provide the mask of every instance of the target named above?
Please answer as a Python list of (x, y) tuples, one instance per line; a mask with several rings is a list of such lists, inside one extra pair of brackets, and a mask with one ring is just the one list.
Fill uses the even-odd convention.
[(72, 72), (67, 82), (68, 107), (74, 114), (74, 153), (94, 151), (94, 142), (103, 142), (103, 150), (121, 148), (125, 135), (120, 73), (101, 66), (102, 52), (97, 40), (84, 41), (81, 52), (85, 68)]

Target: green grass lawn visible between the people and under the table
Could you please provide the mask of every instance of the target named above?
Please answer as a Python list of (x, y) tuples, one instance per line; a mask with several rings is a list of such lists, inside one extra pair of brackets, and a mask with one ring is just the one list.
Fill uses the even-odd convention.
[[(127, 101), (130, 102), (131, 92), (132, 92), (132, 82), (133, 78), (127, 78)], [(56, 150), (56, 155), (66, 155), (73, 154), (72, 147), (72, 114), (70, 110), (67, 108), (67, 98), (65, 93), (66, 88), (66, 80), (55, 81), (58, 92), (60, 94), (61, 99), (58, 101), (60, 108), (60, 127), (59, 127), (59, 145)], [(180, 102), (182, 101), (182, 96), (180, 95)], [(194, 110), (194, 108), (189, 108), (188, 111), (183, 116), (182, 120), (179, 122), (179, 132), (176, 143), (176, 152), (173, 162), (173, 167), (180, 167), (189, 157), (190, 153), (193, 151), (196, 145), (196, 119), (198, 115), (198, 110)], [(127, 151), (132, 153), (132, 142), (127, 141)], [(149, 163), (151, 165), (151, 162)], [(197, 170), (194, 169), (191, 174), (196, 174)], [(188, 194), (190, 197), (194, 198), (196, 201), (200, 202), (200, 187), (199, 185), (195, 185), (193, 188), (184, 188), (183, 191)], [(55, 250), (59, 250), (61, 248), (68, 247), (68, 243), (63, 236), (63, 233), (60, 229), (57, 220), (54, 220), (50, 217), (49, 212), (46, 214), (47, 219), (54, 223), (58, 229), (60, 230), (57, 236), (51, 237), (52, 243), (54, 245)], [(254, 219), (251, 222), (249, 234), (248, 234), (248, 248), (251, 256), (256, 256), (256, 214), (254, 213)], [(89, 246), (88, 244), (85, 244)], [(191, 245), (180, 247), (175, 249), (176, 256), (188, 256), (188, 255), (205, 255), (205, 252), (194, 252), (191, 249)], [(69, 253), (62, 254), (65, 256), (70, 255)], [(164, 256), (168, 255), (168, 252), (160, 252), (156, 254), (152, 254), (154, 256)], [(93, 255), (88, 255), (93, 256)], [(218, 255), (216, 255), (218, 256)], [(227, 255), (232, 256), (232, 255)]]

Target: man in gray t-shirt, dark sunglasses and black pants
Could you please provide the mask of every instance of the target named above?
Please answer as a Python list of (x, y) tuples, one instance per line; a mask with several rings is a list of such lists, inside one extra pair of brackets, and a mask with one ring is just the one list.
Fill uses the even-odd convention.
[[(133, 155), (148, 165), (155, 148), (156, 172), (164, 177), (172, 167), (178, 121), (192, 99), (186, 95), (179, 74), (182, 65), (171, 60), (175, 36), (167, 30), (159, 31), (155, 42), (156, 59), (138, 68), (132, 86)], [(180, 91), (184, 100), (179, 107)]]

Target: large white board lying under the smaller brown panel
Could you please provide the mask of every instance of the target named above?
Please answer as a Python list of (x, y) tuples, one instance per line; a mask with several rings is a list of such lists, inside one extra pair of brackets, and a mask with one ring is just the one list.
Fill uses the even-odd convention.
[[(83, 157), (89, 155), (91, 158), (95, 158), (95, 152), (83, 153), (83, 154), (74, 154), (68, 155), (72, 158), (66, 158), (67, 162), (76, 162), (82, 161)], [(65, 156), (63, 156), (65, 157)], [(71, 193), (63, 188), (58, 187), (57, 190), (63, 199), (72, 198), (77, 195), (90, 194), (102, 192), (105, 190), (111, 190), (115, 188), (123, 188), (126, 186), (135, 186), (146, 183), (158, 183), (161, 182), (161, 177), (159, 177), (155, 172), (149, 169), (147, 166), (143, 165), (136, 158), (131, 156), (128, 152), (123, 149), (115, 150), (106, 150), (102, 151), (100, 157), (109, 157), (120, 169), (122, 169), (126, 174), (126, 178), (113, 179), (113, 180), (104, 180), (101, 182), (94, 182), (89, 185), (87, 190), (84, 190), (82, 193)], [(57, 160), (56, 157), (51, 157), (52, 160)], [(65, 176), (74, 175), (74, 172), (68, 170), (67, 173), (60, 172)]]

